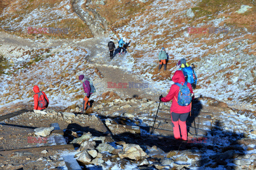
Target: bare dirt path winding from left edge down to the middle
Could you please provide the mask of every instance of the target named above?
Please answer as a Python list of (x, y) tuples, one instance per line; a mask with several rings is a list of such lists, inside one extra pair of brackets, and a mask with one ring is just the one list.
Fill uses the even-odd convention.
[[(90, 38), (83, 40), (52, 40), (47, 39), (46, 43), (43, 43), (45, 39), (39, 39), (38, 41), (33, 41), (25, 38), (19, 38), (17, 36), (8, 35), (4, 32), (0, 32), (0, 40), (4, 42), (3, 45), (12, 46), (12, 47), (29, 47), (29, 48), (58, 48), (58, 46), (78, 46), (86, 48), (89, 51), (89, 57), (86, 60), (98, 68), (100, 73), (103, 76), (103, 79), (99, 80), (97, 87), (100, 90), (100, 93), (106, 91), (114, 91), (119, 96), (127, 97), (141, 97), (148, 99), (157, 100), (157, 92), (153, 91), (150, 88), (150, 84), (146, 84), (141, 80), (138, 75), (133, 75), (127, 72), (125, 69), (121, 69), (119, 61), (122, 60), (122, 57), (116, 57), (115, 61), (110, 61), (109, 53), (107, 49), (108, 38)], [(111, 82), (111, 85), (108, 86), (108, 82)], [(129, 82), (130, 87), (129, 88)], [(122, 83), (122, 87), (115, 87), (115, 83)], [(113, 88), (108, 88), (113, 87)], [(119, 85), (120, 87), (120, 85)], [(150, 92), (154, 94), (151, 95)]]

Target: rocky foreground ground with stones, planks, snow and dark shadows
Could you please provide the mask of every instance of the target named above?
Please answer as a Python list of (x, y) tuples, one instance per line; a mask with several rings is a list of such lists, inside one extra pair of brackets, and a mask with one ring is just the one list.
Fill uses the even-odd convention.
[[(193, 103), (193, 114), (187, 121), (188, 141), (173, 139), (168, 105), (161, 104), (152, 129), (158, 103), (146, 98), (107, 95), (84, 115), (78, 114), (81, 106), (66, 112), (48, 110), (46, 115), (26, 112), (1, 122), (1, 150), (9, 151), (0, 151), (0, 167), (45, 169), (46, 164), (46, 169), (66, 168), (65, 155), (69, 154), (82, 169), (254, 169), (253, 122), (238, 123), (239, 111), (213, 99), (205, 101), (198, 98)], [(36, 128), (50, 127), (51, 123), (58, 123), (62, 134), (57, 129), (46, 137), (35, 134)], [(58, 139), (61, 136), (76, 151), (15, 150), (65, 145)]]

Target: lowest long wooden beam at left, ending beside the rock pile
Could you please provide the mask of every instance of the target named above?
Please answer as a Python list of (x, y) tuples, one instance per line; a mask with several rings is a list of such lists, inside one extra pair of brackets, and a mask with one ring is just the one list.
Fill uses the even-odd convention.
[(14, 149), (14, 150), (3, 150), (3, 151), (0, 151), (0, 155), (9, 156), (9, 155), (14, 154), (14, 152), (31, 152), (31, 153), (37, 152), (38, 153), (45, 149), (47, 151), (63, 150), (63, 149), (75, 150), (73, 145), (54, 145), (54, 146), (22, 148), (22, 149)]

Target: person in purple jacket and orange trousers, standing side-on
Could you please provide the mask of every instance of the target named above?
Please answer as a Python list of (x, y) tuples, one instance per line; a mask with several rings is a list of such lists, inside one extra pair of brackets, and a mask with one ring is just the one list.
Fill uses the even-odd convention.
[(90, 82), (88, 77), (84, 77), (84, 75), (79, 75), (79, 80), (83, 80), (83, 87), (84, 87), (84, 92), (85, 92), (85, 98), (83, 100), (83, 112), (86, 110), (86, 106), (88, 104), (87, 108), (90, 108), (90, 102), (89, 98), (91, 96), (91, 87), (90, 87)]

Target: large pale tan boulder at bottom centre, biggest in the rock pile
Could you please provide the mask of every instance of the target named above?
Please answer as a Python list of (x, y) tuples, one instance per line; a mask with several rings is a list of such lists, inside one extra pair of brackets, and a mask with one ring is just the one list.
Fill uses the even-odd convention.
[(120, 158), (139, 159), (145, 157), (147, 154), (144, 152), (139, 145), (125, 144), (123, 152), (118, 154)]

